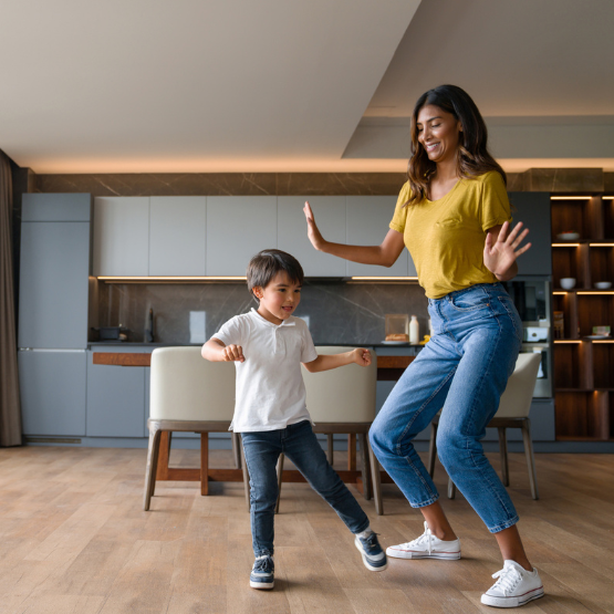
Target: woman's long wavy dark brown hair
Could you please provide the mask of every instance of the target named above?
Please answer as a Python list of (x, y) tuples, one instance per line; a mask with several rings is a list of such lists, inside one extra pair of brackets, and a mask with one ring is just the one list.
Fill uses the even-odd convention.
[(407, 179), (412, 188), (412, 196), (406, 205), (419, 202), (426, 198), (428, 184), (437, 168), (437, 165), (428, 159), (425, 148), (418, 143), (418, 113), (423, 106), (429, 104), (450, 113), (462, 125), (457, 158), (458, 176), (469, 178), (483, 175), (489, 170), (497, 170), (507, 184), (504, 170), (488, 152), (488, 131), (471, 96), (456, 85), (439, 85), (418, 98), (412, 114), (412, 157), (407, 165)]

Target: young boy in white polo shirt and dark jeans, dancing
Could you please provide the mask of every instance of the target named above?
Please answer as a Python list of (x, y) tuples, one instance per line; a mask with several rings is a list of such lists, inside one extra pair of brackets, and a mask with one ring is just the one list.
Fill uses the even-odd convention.
[(301, 363), (311, 373), (356, 363), (371, 364), (368, 350), (318, 355), (306, 324), (292, 315), (301, 301), (303, 269), (277, 249), (248, 266), (248, 288), (258, 311), (236, 315), (202, 346), (208, 361), (235, 361), (237, 399), (231, 429), (241, 434), (250, 475), (251, 533), (256, 562), (252, 589), (274, 583), (273, 521), (278, 498), (275, 466), (283, 452), (354, 533), (371, 571), (384, 571), (386, 554), (368, 518), (329, 465), (311, 427)]

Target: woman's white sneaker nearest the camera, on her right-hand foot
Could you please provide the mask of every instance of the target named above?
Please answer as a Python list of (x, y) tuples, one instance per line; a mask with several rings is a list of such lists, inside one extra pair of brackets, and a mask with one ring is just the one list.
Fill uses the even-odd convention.
[(538, 570), (527, 571), (516, 561), (504, 561), (503, 569), (492, 574), (497, 582), (482, 595), (481, 602), (493, 607), (518, 607), (543, 597)]

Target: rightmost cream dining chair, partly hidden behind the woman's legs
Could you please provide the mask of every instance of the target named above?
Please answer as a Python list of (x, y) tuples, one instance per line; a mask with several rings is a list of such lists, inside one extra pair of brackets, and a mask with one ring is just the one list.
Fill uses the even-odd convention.
[[(504, 486), (510, 485), (510, 472), (508, 464), (508, 440), (507, 428), (520, 428), (524, 441), (524, 454), (529, 468), (529, 483), (531, 496), (539, 499), (538, 477), (535, 473), (535, 460), (533, 457), (533, 444), (531, 441), (531, 420), (529, 412), (531, 399), (535, 387), (535, 379), (540, 367), (541, 354), (524, 353), (519, 354), (516, 368), (508, 379), (506, 392), (501, 395), (499, 409), (495, 417), (488, 423), (489, 427), (497, 428), (499, 431), (499, 455), (501, 458), (501, 478)], [(437, 426), (439, 414), (430, 425), (430, 446), (428, 450), (428, 472), (430, 477), (435, 471), (435, 457), (437, 455)], [(456, 487), (451, 478), (448, 477), (448, 498), (454, 499)]]

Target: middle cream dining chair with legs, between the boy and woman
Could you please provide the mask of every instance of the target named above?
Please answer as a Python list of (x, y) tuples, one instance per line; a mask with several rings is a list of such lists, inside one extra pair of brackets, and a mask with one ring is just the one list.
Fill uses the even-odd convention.
[[(350, 347), (319, 346), (318, 354), (340, 354)], [(368, 429), (375, 419), (375, 392), (377, 383), (377, 356), (372, 352), (372, 363), (367, 367), (356, 364), (320, 373), (303, 368), (306, 388), (306, 405), (314, 423), (315, 433), (329, 438), (329, 461), (332, 465), (332, 438), (335, 434), (354, 434), (358, 438), (363, 496), (375, 499), (377, 514), (383, 513), (379, 483), (379, 464), (368, 444)], [(352, 450), (348, 450), (351, 454)], [(281, 497), (283, 455), (278, 464), (279, 492), (278, 511)], [(343, 477), (343, 472), (340, 471)]]

